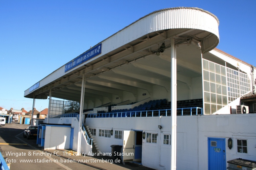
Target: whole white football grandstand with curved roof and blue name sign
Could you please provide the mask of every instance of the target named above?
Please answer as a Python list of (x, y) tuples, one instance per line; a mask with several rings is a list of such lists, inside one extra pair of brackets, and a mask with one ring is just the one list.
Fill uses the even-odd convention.
[(256, 160), (256, 114), (237, 114), (256, 113), (253, 97), (240, 102), (255, 94), (255, 67), (215, 48), (218, 26), (199, 8), (158, 10), (63, 63), (24, 94), (50, 99), (38, 144), (87, 154), (120, 145), (124, 162), (157, 170)]

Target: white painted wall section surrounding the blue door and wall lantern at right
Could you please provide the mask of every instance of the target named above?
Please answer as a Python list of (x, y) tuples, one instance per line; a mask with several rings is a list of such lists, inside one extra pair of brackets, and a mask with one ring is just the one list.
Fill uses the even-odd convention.
[[(217, 137), (226, 139), (226, 160), (243, 158), (256, 160), (256, 114), (229, 114), (199, 116), (199, 169), (208, 168), (207, 138)], [(233, 140), (231, 150), (227, 140)], [(248, 154), (237, 152), (237, 139), (247, 140)], [(203, 163), (205, 162), (205, 163)]]

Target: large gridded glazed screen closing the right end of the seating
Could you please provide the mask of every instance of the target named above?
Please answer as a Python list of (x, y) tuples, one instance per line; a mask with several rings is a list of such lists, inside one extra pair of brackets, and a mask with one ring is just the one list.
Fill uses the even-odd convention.
[(250, 80), (244, 73), (239, 76), (236, 70), (203, 59), (203, 88), (204, 114), (213, 114), (248, 92)]

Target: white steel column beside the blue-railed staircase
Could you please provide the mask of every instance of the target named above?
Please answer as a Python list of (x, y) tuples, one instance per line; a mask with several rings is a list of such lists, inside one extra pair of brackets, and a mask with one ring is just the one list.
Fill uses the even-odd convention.
[(81, 88), (81, 99), (80, 99), (80, 112), (79, 112), (79, 129), (78, 129), (78, 142), (77, 142), (77, 152), (80, 155), (81, 153), (81, 135), (82, 135), (82, 115), (83, 115), (83, 106), (84, 106), (84, 75), (82, 76), (82, 88)]

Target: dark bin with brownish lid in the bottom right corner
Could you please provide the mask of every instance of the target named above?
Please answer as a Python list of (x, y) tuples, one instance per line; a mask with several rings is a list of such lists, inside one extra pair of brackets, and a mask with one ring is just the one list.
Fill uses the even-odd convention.
[(256, 162), (242, 158), (227, 161), (228, 170), (256, 170)]

